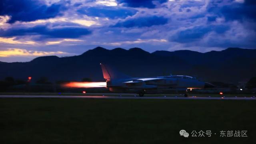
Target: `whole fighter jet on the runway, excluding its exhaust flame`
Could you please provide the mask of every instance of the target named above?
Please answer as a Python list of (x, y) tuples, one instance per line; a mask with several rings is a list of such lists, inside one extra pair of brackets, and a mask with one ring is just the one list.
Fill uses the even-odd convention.
[(214, 85), (197, 80), (192, 76), (170, 75), (156, 77), (134, 78), (127, 76), (116, 69), (100, 64), (106, 86), (111, 92), (136, 93), (139, 96), (144, 94), (161, 93), (168, 90), (184, 91), (184, 96), (188, 96), (188, 90), (215, 87)]

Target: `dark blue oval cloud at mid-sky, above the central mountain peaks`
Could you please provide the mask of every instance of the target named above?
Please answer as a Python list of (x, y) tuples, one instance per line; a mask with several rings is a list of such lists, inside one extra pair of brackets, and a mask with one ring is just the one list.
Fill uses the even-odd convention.
[(150, 27), (153, 25), (163, 25), (163, 24), (166, 24), (167, 22), (168, 22), (168, 19), (162, 16), (138, 17), (138, 18), (129, 19), (123, 22), (118, 22), (113, 27), (141, 28), (141, 27)]

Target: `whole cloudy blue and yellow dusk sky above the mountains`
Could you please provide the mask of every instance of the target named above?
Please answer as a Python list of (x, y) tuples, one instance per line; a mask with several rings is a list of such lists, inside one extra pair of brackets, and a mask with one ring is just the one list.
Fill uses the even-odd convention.
[(256, 48), (256, 0), (1, 0), (0, 61), (74, 56), (97, 46)]

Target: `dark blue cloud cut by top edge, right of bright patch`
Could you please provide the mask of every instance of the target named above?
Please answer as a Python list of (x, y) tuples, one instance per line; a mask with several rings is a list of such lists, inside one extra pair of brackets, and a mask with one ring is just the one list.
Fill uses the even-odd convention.
[(156, 5), (152, 1), (157, 1), (160, 4), (167, 2), (168, 0), (116, 0), (119, 4), (123, 3), (124, 6), (134, 7), (134, 8), (155, 8)]

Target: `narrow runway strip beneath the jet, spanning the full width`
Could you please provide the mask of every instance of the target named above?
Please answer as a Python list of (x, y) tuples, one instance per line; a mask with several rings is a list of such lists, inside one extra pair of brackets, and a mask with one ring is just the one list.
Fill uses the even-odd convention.
[(0, 98), (89, 98), (89, 99), (181, 99), (181, 100), (256, 100), (256, 97), (210, 97), (210, 96), (22, 96), (0, 95)]

